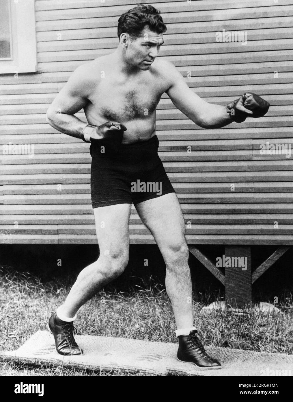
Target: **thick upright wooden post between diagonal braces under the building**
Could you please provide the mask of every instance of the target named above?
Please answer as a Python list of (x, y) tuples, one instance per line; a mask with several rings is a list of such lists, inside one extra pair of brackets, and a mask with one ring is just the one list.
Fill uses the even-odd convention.
[[(226, 246), (225, 258), (227, 257), (230, 258), (225, 263), (226, 303), (233, 308), (244, 308), (245, 304), (251, 302), (250, 247)], [(238, 258), (237, 264), (235, 257)], [(239, 257), (241, 260), (239, 260)], [(232, 264), (229, 264), (229, 261), (232, 261)], [(242, 266), (239, 266), (239, 261), (242, 262)], [(243, 263), (245, 263), (244, 267)], [(233, 266), (229, 267), (227, 265)]]

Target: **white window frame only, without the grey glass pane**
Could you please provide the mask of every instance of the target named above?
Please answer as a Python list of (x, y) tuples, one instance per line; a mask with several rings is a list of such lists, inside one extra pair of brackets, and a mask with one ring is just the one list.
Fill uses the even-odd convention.
[(0, 74), (37, 72), (35, 0), (10, 0), (12, 59), (0, 60)]

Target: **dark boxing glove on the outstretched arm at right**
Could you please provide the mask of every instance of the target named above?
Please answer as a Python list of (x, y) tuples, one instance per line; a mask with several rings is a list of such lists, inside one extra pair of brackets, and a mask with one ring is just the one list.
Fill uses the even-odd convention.
[(239, 99), (226, 106), (227, 113), (236, 123), (242, 123), (246, 117), (262, 117), (269, 110), (270, 104), (252, 92), (245, 92)]

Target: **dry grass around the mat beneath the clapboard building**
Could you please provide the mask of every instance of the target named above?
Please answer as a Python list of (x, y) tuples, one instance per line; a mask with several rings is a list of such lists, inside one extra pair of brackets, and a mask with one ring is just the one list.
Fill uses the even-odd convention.
[[(64, 301), (71, 283), (53, 279), (42, 283), (10, 267), (0, 269), (0, 348), (14, 350), (38, 330), (47, 330), (51, 312)], [(75, 326), (78, 334), (177, 342), (175, 322), (165, 289), (139, 278), (135, 288), (117, 292), (108, 287), (81, 308)], [(210, 295), (206, 296), (210, 299)], [(206, 300), (207, 300), (206, 299)], [(203, 303), (194, 302), (195, 326), (204, 345), (272, 353), (293, 353), (292, 295), (279, 302), (281, 313), (235, 316), (230, 312), (200, 314)], [(28, 367), (0, 362), (0, 375), (131, 375), (120, 371)], [(143, 374), (135, 374), (143, 375)]]

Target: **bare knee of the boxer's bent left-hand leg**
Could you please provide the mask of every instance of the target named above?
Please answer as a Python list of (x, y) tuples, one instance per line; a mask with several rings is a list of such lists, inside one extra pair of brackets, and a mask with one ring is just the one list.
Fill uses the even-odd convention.
[(128, 264), (128, 250), (104, 250), (96, 261), (98, 270), (107, 278), (121, 275)]

